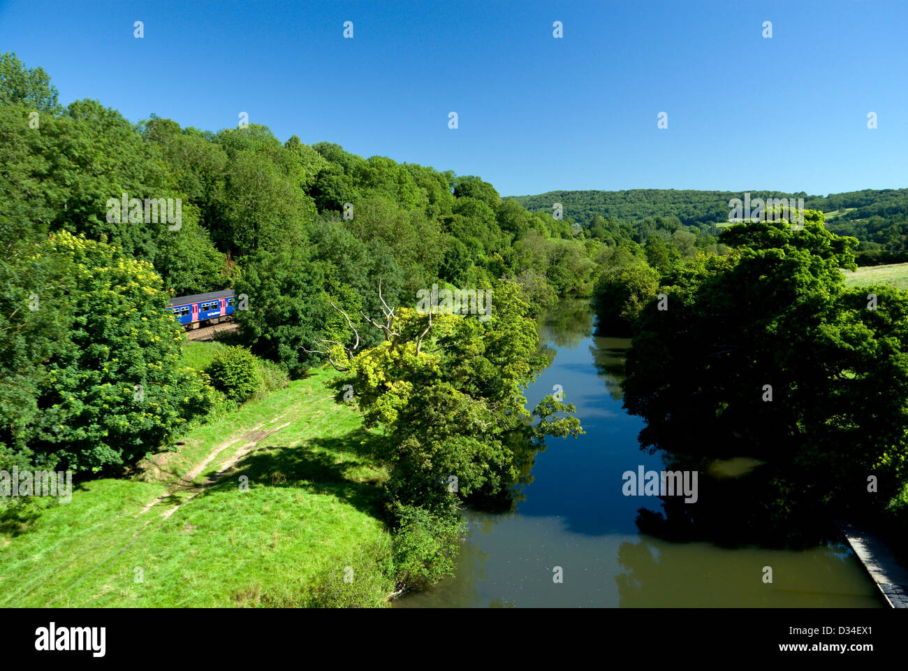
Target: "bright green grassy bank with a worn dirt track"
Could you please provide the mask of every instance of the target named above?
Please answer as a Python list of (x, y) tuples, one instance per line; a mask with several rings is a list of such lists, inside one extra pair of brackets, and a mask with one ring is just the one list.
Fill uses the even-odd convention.
[[(187, 361), (216, 349), (193, 343)], [(332, 375), (192, 431), (131, 479), (7, 508), (0, 606), (382, 605), (393, 589), (386, 474), (360, 418), (325, 386)]]

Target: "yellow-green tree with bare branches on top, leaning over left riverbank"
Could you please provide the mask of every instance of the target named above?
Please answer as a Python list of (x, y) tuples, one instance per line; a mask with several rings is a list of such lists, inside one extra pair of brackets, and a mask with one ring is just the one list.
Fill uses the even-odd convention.
[(449, 476), (462, 496), (497, 494), (518, 479), (528, 441), (579, 432), (576, 418), (557, 416), (573, 406), (550, 396), (535, 411), (538, 426), (528, 425), (522, 389), (545, 359), (518, 292), (501, 282), (488, 322), (433, 315), (429, 332), (429, 315), (400, 308), (386, 323), (388, 339), (350, 361), (366, 426), (384, 431), (392, 499), (444, 507)]

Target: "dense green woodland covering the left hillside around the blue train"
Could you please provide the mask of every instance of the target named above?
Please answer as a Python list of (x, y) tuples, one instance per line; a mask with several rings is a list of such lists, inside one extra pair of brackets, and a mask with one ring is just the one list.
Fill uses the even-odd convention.
[[(212, 133), (154, 115), (133, 125), (93, 100), (63, 108), (49, 76), (15, 55), (0, 76), (6, 460), (99, 472), (203, 416), (216, 399), (201, 378), (155, 363), (179, 346), (163, 312), (172, 295), (248, 295), (240, 344), (301, 376), (348, 326), (378, 345), (364, 315), (415, 307), (433, 284), (494, 288), (501, 309), (513, 294), (532, 316), (590, 295), (598, 268), (627, 253), (476, 176), (281, 143), (262, 125)], [(179, 199), (181, 225), (109, 216), (121, 195)], [(101, 411), (132, 399), (114, 380), (139, 378), (161, 402), (143, 410), (150, 433), (123, 448), (105, 424), (123, 416)]]

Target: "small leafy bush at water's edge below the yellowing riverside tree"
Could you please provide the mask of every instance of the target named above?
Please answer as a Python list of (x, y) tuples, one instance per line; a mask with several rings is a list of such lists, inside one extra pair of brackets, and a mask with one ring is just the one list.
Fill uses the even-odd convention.
[(454, 575), (463, 519), (451, 506), (439, 512), (395, 503), (394, 568), (401, 589), (425, 589)]

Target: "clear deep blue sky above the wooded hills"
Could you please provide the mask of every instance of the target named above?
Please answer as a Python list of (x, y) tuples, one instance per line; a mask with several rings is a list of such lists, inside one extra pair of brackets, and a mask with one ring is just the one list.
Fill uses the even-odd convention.
[(0, 51), (44, 67), (64, 104), (206, 130), (247, 112), (281, 140), (502, 195), (908, 186), (905, 0), (0, 0)]

